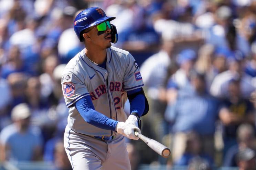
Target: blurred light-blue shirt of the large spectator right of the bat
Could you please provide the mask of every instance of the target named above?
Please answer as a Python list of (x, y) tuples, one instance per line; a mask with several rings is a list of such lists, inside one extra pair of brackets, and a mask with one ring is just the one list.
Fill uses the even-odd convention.
[(218, 116), (218, 103), (208, 94), (180, 96), (174, 105), (167, 107), (165, 116), (171, 122), (174, 133), (195, 131), (201, 135), (212, 135)]

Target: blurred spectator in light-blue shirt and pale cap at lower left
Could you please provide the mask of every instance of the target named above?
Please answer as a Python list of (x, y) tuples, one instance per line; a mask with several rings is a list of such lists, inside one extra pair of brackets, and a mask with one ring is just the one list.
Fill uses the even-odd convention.
[(11, 112), (13, 124), (0, 133), (1, 159), (12, 161), (40, 160), (42, 156), (42, 137), (40, 130), (30, 126), (31, 112), (22, 103)]

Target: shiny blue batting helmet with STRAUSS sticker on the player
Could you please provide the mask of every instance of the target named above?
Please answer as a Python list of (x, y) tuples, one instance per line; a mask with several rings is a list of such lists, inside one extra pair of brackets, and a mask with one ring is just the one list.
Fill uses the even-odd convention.
[(80, 12), (74, 21), (74, 30), (76, 32), (77, 37), (82, 42), (82, 31), (85, 29), (98, 25), (104, 21), (114, 20), (116, 17), (109, 17), (105, 14), (105, 12), (98, 7), (91, 7)]

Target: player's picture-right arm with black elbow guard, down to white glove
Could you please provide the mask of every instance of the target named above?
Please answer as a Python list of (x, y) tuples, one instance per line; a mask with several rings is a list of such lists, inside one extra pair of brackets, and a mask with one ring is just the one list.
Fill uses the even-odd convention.
[(148, 100), (143, 88), (127, 91), (127, 96), (130, 102), (130, 116), (126, 120), (126, 123), (141, 128), (140, 117), (147, 114), (149, 110)]

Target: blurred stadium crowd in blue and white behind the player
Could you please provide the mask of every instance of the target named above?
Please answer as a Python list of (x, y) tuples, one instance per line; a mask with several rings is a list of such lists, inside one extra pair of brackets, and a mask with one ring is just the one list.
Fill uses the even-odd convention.
[(255, 169), (255, 0), (0, 0), (0, 167), (71, 169), (60, 80), (84, 48), (74, 16), (93, 6), (116, 16), (113, 46), (140, 66), (150, 103), (142, 133), (171, 148), (164, 159), (128, 141), (132, 169)]

